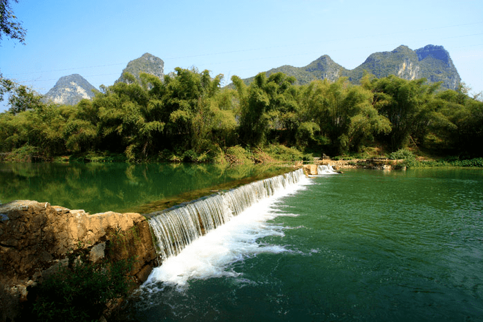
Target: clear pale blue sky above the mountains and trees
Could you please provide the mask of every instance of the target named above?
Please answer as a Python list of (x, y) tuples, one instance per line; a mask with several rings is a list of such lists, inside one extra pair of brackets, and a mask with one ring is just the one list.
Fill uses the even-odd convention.
[(41, 94), (75, 73), (112, 85), (144, 53), (163, 59), (164, 73), (195, 66), (228, 83), (322, 55), (352, 69), (371, 53), (428, 44), (448, 50), (471, 93), (483, 91), (481, 0), (10, 2), (26, 46), (3, 37), (0, 72)]

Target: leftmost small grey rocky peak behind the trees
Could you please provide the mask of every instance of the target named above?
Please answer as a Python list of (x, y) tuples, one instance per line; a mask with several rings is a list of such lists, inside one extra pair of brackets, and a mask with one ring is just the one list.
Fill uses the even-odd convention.
[(44, 102), (75, 105), (83, 98), (91, 100), (97, 89), (79, 74), (60, 77), (53, 88), (44, 95)]

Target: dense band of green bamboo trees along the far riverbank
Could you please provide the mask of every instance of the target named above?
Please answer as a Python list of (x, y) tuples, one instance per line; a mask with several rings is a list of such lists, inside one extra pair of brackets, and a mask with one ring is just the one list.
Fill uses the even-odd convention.
[[(0, 158), (261, 163), (339, 155), (372, 158), (410, 149), (435, 158), (483, 156), (483, 102), (439, 91), (424, 79), (363, 77), (360, 84), (314, 80), (299, 86), (283, 73), (239, 77), (176, 68), (159, 79), (101, 86), (75, 106), (45, 104), (25, 86), (7, 84), (0, 114)], [(3, 84), (6, 85), (6, 84)]]

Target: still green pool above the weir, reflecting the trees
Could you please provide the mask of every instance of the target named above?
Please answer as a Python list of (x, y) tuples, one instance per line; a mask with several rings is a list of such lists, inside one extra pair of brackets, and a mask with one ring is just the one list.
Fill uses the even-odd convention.
[(90, 214), (149, 213), (182, 193), (175, 203), (269, 171), (212, 164), (0, 163), (0, 202), (37, 200)]

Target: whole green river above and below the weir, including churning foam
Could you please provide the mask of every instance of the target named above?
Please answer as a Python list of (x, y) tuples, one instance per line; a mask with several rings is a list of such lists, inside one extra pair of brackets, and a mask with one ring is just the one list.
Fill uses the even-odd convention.
[[(253, 173), (167, 164), (3, 164), (0, 170), (3, 202), (35, 199), (92, 213), (152, 205), (183, 189), (211, 189)], [(482, 316), (483, 169), (448, 168), (303, 178), (164, 261), (117, 319)]]

